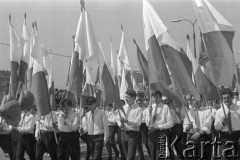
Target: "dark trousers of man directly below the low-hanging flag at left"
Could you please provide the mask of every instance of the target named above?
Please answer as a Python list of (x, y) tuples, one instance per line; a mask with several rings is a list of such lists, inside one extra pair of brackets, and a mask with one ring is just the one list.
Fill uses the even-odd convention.
[(45, 152), (49, 153), (51, 160), (57, 160), (57, 143), (54, 132), (40, 132), (40, 139), (36, 145), (36, 160), (42, 160)]

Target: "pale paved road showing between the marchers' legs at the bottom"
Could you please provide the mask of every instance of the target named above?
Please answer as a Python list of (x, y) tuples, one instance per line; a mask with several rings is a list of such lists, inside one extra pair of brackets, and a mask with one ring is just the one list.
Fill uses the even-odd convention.
[[(86, 144), (85, 143), (80, 143), (80, 146), (81, 146), (81, 160), (85, 160), (85, 155), (86, 155)], [(143, 147), (143, 151), (144, 151), (144, 155), (145, 155), (145, 160), (149, 160), (149, 156), (148, 156), (148, 153), (146, 151), (146, 148)], [(113, 154), (114, 156), (114, 154)], [(5, 155), (6, 157), (6, 160), (9, 160), (9, 157), (7, 155)], [(107, 154), (107, 150), (106, 150), (106, 147), (103, 148), (103, 154), (102, 154), (102, 158), (103, 160), (107, 160), (108, 158), (108, 154)], [(114, 158), (114, 157), (113, 157)], [(120, 159), (120, 158), (119, 158)], [(138, 156), (136, 157), (136, 160), (138, 160)], [(29, 160), (28, 156), (25, 155), (25, 160)], [(44, 156), (44, 159), (43, 160), (51, 160), (50, 157), (48, 156)]]

